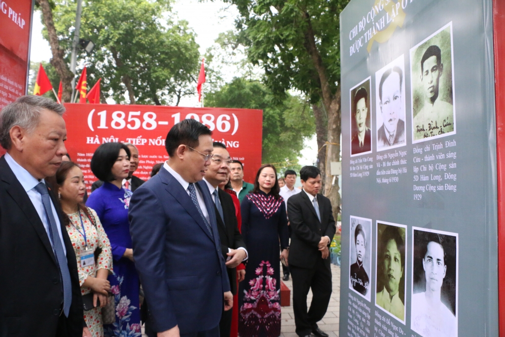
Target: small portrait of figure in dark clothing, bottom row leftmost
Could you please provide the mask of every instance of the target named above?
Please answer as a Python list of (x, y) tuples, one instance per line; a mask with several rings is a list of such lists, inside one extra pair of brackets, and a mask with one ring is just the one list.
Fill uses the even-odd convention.
[(370, 301), (372, 220), (350, 217), (349, 289)]

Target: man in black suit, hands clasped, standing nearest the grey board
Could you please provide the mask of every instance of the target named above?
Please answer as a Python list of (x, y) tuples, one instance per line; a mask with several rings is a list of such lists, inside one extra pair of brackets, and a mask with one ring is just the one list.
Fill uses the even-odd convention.
[[(318, 195), (321, 172), (315, 166), (300, 170), (303, 191), (289, 198), (287, 214), (291, 228), (289, 267), (293, 279), (293, 311), (296, 333), (328, 337), (317, 322), (328, 309), (331, 296), (329, 247), (336, 227), (328, 198)], [(307, 294), (312, 289), (312, 303), (307, 312)]]

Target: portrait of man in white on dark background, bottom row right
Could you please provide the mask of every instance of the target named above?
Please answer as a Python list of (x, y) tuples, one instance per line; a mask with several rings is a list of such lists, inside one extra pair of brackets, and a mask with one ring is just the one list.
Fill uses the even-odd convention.
[(458, 336), (458, 234), (413, 227), (411, 328)]

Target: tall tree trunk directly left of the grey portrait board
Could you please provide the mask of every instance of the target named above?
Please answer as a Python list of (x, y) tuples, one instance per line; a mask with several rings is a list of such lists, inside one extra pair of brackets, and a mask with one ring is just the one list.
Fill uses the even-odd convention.
[[(304, 46), (312, 58), (314, 67), (318, 73), (319, 80), (321, 82), (321, 99), (326, 115), (328, 116), (328, 144), (326, 145), (326, 174), (323, 194), (330, 199), (333, 207), (333, 216), (336, 220), (337, 215), (340, 212), (340, 194), (338, 193), (338, 176), (335, 176), (335, 181), (333, 181), (330, 163), (340, 161), (340, 86), (337, 86), (335, 94), (331, 92), (327, 70), (323, 64), (321, 54), (319, 54), (319, 50), (317, 49), (310, 15), (309, 13), (304, 12), (303, 17), (307, 22)], [(324, 150), (325, 149), (322, 149), (321, 151)]]

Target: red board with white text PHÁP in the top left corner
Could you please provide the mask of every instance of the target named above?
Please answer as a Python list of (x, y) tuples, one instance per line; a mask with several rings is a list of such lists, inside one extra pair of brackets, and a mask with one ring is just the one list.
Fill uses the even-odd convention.
[(26, 94), (33, 0), (0, 0), (0, 110)]

